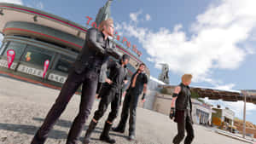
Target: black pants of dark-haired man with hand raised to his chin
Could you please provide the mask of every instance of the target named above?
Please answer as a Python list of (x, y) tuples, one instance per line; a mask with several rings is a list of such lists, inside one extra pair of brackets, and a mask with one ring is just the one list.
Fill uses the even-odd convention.
[(129, 119), (129, 135), (135, 135), (135, 129), (136, 129), (136, 110), (137, 110), (137, 101), (139, 94), (134, 93), (131, 89), (127, 91), (125, 95), (125, 101), (123, 102), (123, 109), (121, 113), (121, 119), (119, 122), (118, 127), (125, 129), (126, 121), (129, 116), (130, 112), (130, 119)]

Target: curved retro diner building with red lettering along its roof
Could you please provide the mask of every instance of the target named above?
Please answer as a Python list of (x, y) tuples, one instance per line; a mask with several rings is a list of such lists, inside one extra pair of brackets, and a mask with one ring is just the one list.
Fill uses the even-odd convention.
[[(106, 7), (110, 2), (104, 9), (109, 11)], [(83, 47), (88, 28), (54, 14), (10, 3), (0, 3), (0, 21), (0, 32), (4, 36), (0, 71), (60, 87)], [(114, 38), (113, 41), (116, 43)], [(128, 64), (131, 75), (142, 61), (124, 45), (117, 43), (117, 48), (120, 53), (131, 55)], [(9, 49), (15, 50), (10, 70), (6, 68)], [(49, 60), (49, 68), (43, 78), (45, 60)], [(146, 72), (149, 76), (148, 68)]]

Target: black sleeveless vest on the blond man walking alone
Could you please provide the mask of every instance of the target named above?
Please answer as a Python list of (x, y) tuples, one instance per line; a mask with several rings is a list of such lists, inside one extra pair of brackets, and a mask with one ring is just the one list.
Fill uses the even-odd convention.
[[(177, 95), (177, 100), (175, 101), (175, 109), (177, 110), (192, 110), (192, 102), (191, 102), (191, 92), (189, 86), (184, 84), (179, 84), (181, 87), (180, 92)], [(189, 108), (188, 108), (189, 105)]]

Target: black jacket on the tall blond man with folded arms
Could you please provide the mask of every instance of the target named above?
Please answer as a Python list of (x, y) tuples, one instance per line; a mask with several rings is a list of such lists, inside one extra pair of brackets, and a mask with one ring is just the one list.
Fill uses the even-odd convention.
[(90, 28), (86, 34), (84, 46), (74, 62), (74, 70), (82, 73), (87, 68), (100, 72), (102, 64), (108, 60), (108, 56), (119, 59), (120, 55), (115, 44), (107, 38), (104, 40), (104, 34)]

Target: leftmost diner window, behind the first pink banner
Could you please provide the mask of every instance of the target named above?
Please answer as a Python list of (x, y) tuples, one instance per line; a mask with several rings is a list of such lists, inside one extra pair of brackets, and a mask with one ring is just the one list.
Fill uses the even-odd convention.
[(14, 49), (15, 50), (15, 60), (20, 60), (20, 56), (22, 55), (25, 48), (26, 48), (26, 44), (24, 44), (24, 43), (10, 42), (8, 45), (8, 48), (4, 50), (4, 56), (7, 57), (6, 53), (9, 49)]

